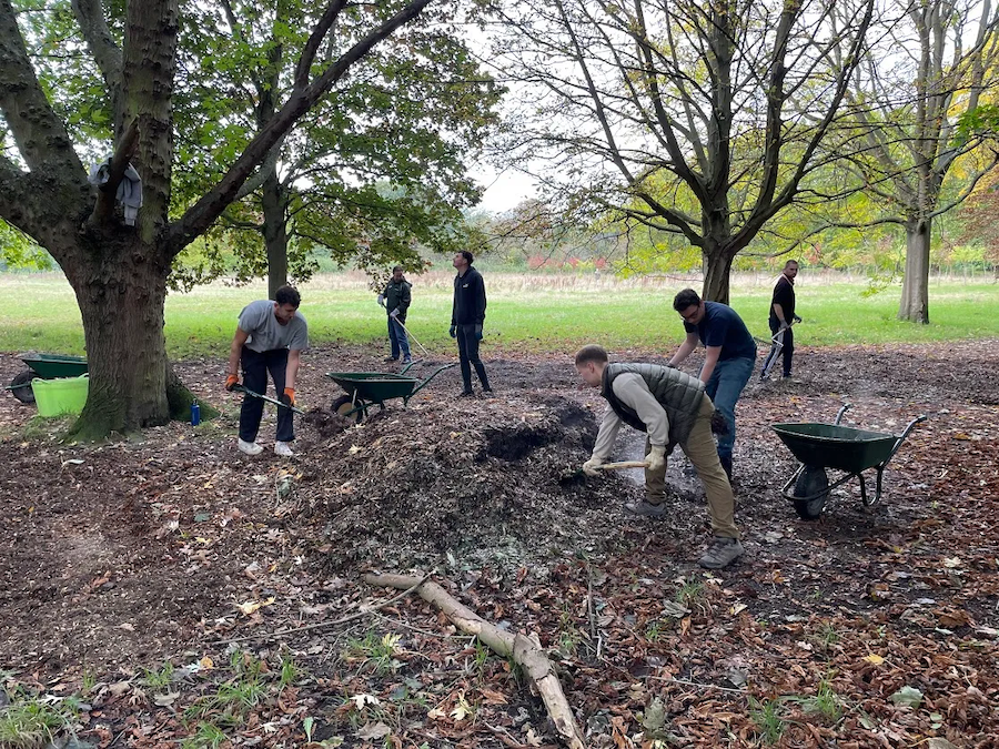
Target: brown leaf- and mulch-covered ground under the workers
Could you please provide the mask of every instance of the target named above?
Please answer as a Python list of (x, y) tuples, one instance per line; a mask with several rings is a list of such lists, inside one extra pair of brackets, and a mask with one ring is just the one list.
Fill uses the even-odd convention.
[[(604, 406), (568, 355), (486, 352), (492, 397), (455, 397), (448, 370), (405, 408), (332, 415), (324, 373), (379, 371), (381, 356), (309, 352), (293, 459), (270, 449), (271, 412), (266, 452), (235, 449), (221, 360), (179, 371), (222, 416), (141, 439), (64, 445), (64, 423), (0, 399), (8, 691), (83, 695), (82, 746), (557, 743), (515, 668), (414, 595), (385, 605), (400, 591), (360, 577), (381, 571), (432, 575), (488, 621), (535, 632), (589, 746), (999, 746), (999, 342), (799, 348), (794, 382), (754, 378), (734, 483), (747, 553), (713, 574), (696, 566), (707, 513), (679, 453), (664, 519), (623, 513), (640, 474), (572, 475)], [(0, 356), (0, 381), (22, 368)], [(831, 422), (845, 402), (844, 424), (866, 429), (928, 418), (881, 503), (865, 508), (851, 479), (800, 520), (780, 496), (796, 463), (770, 425)], [(623, 431), (616, 457), (642, 446)], [(297, 676), (238, 718), (204, 707), (246, 662)], [(897, 698), (906, 688), (918, 704)], [(199, 726), (222, 713), (212, 745)]]

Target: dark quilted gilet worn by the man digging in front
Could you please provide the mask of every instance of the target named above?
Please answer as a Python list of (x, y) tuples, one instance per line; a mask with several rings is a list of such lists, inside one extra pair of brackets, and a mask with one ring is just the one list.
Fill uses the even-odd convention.
[(607, 398), (607, 403), (614, 413), (628, 426), (639, 432), (645, 432), (645, 424), (638, 418), (638, 414), (630, 406), (625, 405), (614, 395), (612, 385), (615, 377), (625, 372), (634, 372), (642, 375), (659, 405), (666, 411), (669, 419), (669, 444), (676, 445), (687, 441), (700, 402), (704, 398), (704, 383), (697, 377), (658, 364), (608, 364), (604, 368), (604, 383), (601, 395)]

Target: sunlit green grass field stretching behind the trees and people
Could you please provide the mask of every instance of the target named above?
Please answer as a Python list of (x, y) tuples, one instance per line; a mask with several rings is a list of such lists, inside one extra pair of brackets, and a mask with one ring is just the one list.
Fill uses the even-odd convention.
[[(431, 351), (453, 345), (451, 279), (435, 272), (411, 279), (411, 333)], [(674, 294), (699, 282), (677, 279), (618, 280), (486, 273), (486, 345), (507, 351), (572, 351), (587, 342), (612, 350), (669, 350), (683, 338), (673, 311)], [(737, 276), (733, 306), (751, 333), (768, 337), (767, 305), (774, 277)], [(835, 275), (798, 280), (798, 312), (805, 323), (800, 346), (882, 344), (999, 338), (999, 285), (981, 280), (934, 281), (930, 325), (896, 320), (899, 286), (864, 296), (864, 280)], [(385, 337), (385, 314), (360, 274), (324, 274), (303, 284), (302, 312), (314, 345), (370, 343)], [(75, 297), (57, 274), (0, 275), (0, 351), (83, 354), (83, 328)], [(224, 356), (240, 310), (266, 296), (263, 284), (213, 284), (167, 301), (167, 345), (178, 358)], [(414, 346), (415, 347), (415, 346)]]

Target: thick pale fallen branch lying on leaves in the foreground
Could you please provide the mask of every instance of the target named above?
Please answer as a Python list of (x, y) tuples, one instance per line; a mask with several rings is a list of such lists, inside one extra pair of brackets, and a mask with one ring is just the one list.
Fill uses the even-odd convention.
[(569, 709), (562, 685), (552, 668), (552, 662), (541, 647), (524, 635), (511, 635), (480, 618), (472, 609), (466, 608), (451, 594), (436, 583), (421, 580), (417, 577), (406, 575), (373, 575), (367, 574), (362, 578), (369, 585), (377, 585), (387, 588), (413, 589), (428, 604), (436, 606), (454, 625), (470, 635), (475, 635), (485, 642), (494, 652), (503, 658), (513, 658), (519, 665), (527, 677), (537, 688), (548, 717), (555, 723), (555, 729), (571, 749), (584, 749), (583, 735), (576, 725), (576, 719)]

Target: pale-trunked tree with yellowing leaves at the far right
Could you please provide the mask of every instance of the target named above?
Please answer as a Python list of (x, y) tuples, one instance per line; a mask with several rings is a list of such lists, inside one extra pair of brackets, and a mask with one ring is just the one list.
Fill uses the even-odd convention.
[[(995, 150), (972, 153), (981, 139), (958, 136), (958, 126), (996, 87), (999, 10), (988, 0), (919, 0), (904, 10), (901, 22), (869, 45), (854, 78), (850, 104), (866, 148), (851, 163), (880, 212), (866, 225), (906, 231), (898, 317), (929, 323), (934, 220), (959, 205), (997, 163)], [(961, 158), (967, 169), (948, 191), (945, 180)]]

